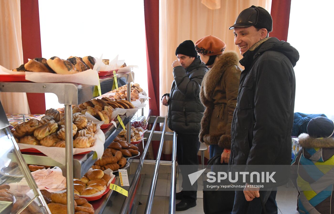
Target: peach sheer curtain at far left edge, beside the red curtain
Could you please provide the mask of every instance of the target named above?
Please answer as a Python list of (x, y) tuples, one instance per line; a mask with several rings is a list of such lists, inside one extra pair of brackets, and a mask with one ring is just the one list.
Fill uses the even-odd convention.
[[(0, 9), (0, 65), (14, 69), (23, 64), (20, 1), (0, 1)], [(0, 100), (8, 114), (29, 113), (26, 93), (0, 92)]]

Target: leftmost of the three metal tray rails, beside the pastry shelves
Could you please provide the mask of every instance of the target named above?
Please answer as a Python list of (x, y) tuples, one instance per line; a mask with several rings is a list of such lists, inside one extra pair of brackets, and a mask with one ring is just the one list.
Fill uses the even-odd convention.
[[(157, 125), (157, 122), (158, 122), (158, 117), (155, 118), (154, 120), (154, 123), (153, 123), (153, 126), (152, 126), (152, 131), (151, 131), (151, 134), (147, 140), (147, 143), (146, 143), (146, 147), (143, 151), (143, 154), (142, 154), (142, 157), (140, 158), (141, 160), (141, 163), (143, 163), (143, 161), (145, 160), (145, 157), (146, 157), (146, 153), (148, 151), (148, 148), (151, 144), (151, 140), (152, 140), (152, 137), (153, 137), (153, 133), (154, 133), (154, 130), (155, 130), (155, 127)], [(138, 165), (138, 168), (137, 168), (137, 171), (135, 173), (135, 176), (134, 178), (132, 179), (132, 182), (130, 184), (130, 188), (129, 188), (129, 191), (128, 191), (128, 196), (132, 196), (135, 189), (136, 189), (136, 185), (138, 183), (138, 179), (139, 179), (139, 176), (140, 176), (140, 171), (142, 169), (143, 165), (142, 164), (139, 164)], [(129, 210), (129, 203), (131, 201), (131, 197), (126, 197), (125, 198), (125, 201), (123, 203), (123, 206), (122, 206), (122, 209), (121, 209), (121, 214), (126, 214)]]

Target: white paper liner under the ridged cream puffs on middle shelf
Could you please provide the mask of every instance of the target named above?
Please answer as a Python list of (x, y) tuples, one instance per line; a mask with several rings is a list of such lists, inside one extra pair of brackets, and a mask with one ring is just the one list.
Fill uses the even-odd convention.
[[(98, 155), (98, 158), (101, 158), (104, 152), (104, 142), (106, 137), (101, 129), (96, 130), (94, 138), (96, 139), (94, 142), (94, 146), (85, 149), (73, 148), (73, 155), (79, 154), (82, 152), (95, 151)], [(38, 151), (42, 152), (44, 155), (50, 157), (52, 160), (57, 161), (58, 163), (65, 165), (66, 164), (66, 156), (65, 156), (65, 148), (60, 147), (45, 147), (38, 145), (30, 145), (30, 144), (17, 144), (20, 149), (29, 149), (35, 148)]]

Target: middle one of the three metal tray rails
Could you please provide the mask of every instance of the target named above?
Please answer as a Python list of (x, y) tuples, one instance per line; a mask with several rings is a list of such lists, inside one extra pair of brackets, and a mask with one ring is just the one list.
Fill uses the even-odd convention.
[(157, 185), (158, 171), (159, 171), (159, 166), (160, 166), (160, 158), (161, 158), (162, 148), (163, 148), (163, 145), (164, 145), (166, 123), (167, 123), (167, 117), (165, 117), (164, 128), (162, 130), (159, 150), (158, 150), (158, 154), (157, 154), (157, 161), (155, 163), (154, 175), (153, 175), (152, 182), (151, 182), (150, 193), (149, 193), (148, 198), (147, 198), (147, 203), (146, 203), (147, 206), (145, 208), (145, 213), (146, 214), (151, 214), (151, 212), (152, 212), (154, 194), (155, 194), (155, 189), (156, 189), (156, 185)]

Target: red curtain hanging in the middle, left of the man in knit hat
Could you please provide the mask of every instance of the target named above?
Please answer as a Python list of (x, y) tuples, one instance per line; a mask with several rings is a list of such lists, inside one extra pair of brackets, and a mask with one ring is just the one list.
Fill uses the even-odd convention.
[(159, 116), (159, 0), (144, 0), (144, 13), (149, 115)]

